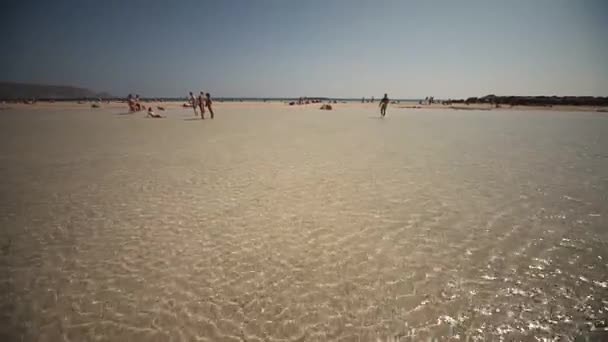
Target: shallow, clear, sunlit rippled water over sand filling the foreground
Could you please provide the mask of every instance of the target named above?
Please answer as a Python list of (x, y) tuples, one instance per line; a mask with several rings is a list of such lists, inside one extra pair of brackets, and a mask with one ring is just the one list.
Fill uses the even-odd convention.
[(1, 111), (0, 339), (607, 337), (608, 116), (334, 107)]

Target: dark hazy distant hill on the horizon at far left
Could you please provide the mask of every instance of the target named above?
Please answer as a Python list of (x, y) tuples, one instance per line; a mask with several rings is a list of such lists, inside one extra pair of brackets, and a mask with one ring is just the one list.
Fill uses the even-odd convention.
[(85, 88), (29, 84), (16, 82), (0, 82), (0, 99), (83, 99), (83, 98), (110, 98), (108, 93), (98, 93)]

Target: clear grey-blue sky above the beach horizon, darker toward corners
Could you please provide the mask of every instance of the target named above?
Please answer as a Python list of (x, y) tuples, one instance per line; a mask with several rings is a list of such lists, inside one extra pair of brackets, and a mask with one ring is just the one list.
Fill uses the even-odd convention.
[(606, 0), (4, 0), (0, 80), (124, 96), (608, 96)]

